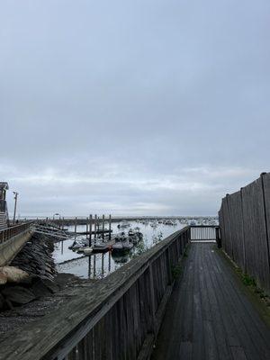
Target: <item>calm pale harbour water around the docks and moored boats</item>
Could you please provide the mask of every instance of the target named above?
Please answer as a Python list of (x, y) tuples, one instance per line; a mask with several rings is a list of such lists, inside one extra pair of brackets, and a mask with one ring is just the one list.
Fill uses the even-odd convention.
[[(118, 223), (112, 223), (113, 234), (121, 231), (117, 229), (117, 225)], [(133, 247), (129, 254), (122, 257), (115, 257), (111, 252), (92, 254), (91, 256), (85, 257), (82, 254), (77, 254), (68, 249), (73, 243), (73, 239), (56, 243), (53, 257), (55, 258), (58, 272), (71, 273), (83, 278), (103, 278), (130, 261), (132, 257), (137, 256), (140, 252), (153, 247), (158, 241), (162, 241), (162, 239), (174, 233), (176, 230), (184, 228), (184, 224), (178, 221), (177, 225), (158, 224), (157, 228), (152, 228), (149, 224), (144, 225), (136, 221), (130, 221), (130, 226), (132, 229), (139, 227), (143, 233), (143, 241), (141, 241), (137, 247)], [(74, 231), (74, 227), (69, 227), (68, 229)], [(85, 230), (85, 225), (77, 226), (78, 232)], [(129, 228), (122, 229), (122, 231), (125, 232), (127, 230), (129, 230)], [(81, 236), (81, 238), (85, 237)]]

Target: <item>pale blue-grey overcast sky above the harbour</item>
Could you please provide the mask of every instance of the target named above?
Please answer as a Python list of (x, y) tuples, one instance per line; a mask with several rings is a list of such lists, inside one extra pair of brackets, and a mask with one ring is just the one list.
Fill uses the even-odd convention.
[(1, 0), (21, 215), (216, 214), (269, 171), (269, 0)]

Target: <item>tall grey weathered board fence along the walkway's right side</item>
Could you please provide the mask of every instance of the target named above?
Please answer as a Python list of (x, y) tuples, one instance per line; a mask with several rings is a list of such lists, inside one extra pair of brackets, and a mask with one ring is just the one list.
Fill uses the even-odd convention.
[(270, 293), (270, 173), (222, 199), (222, 247), (257, 284)]

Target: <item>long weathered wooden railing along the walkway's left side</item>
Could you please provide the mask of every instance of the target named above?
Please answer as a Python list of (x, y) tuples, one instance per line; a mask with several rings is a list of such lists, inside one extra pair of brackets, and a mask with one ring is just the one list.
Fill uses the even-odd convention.
[(56, 311), (25, 325), (12, 338), (6, 336), (0, 358), (148, 359), (191, 230), (178, 230), (112, 275), (73, 289)]

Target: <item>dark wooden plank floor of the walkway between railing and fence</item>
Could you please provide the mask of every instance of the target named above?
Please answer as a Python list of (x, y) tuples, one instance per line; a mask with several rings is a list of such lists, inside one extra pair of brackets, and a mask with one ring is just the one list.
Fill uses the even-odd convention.
[(151, 360), (269, 360), (270, 329), (213, 244), (192, 244)]

